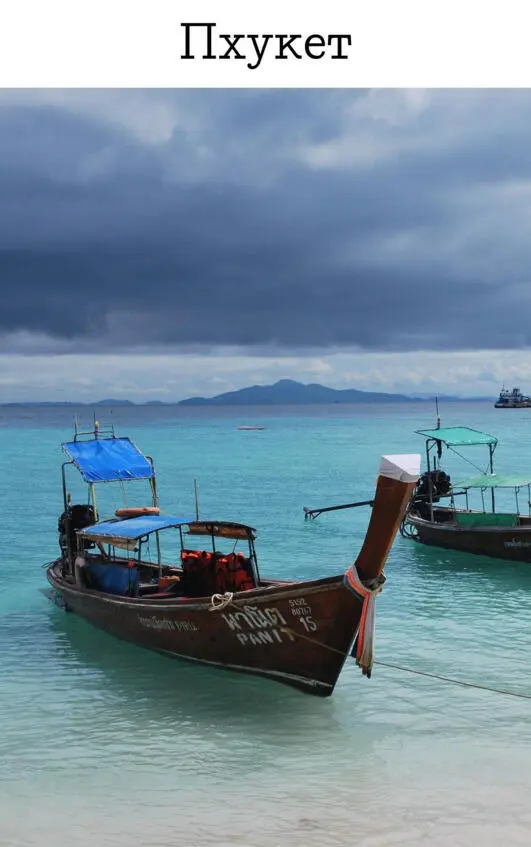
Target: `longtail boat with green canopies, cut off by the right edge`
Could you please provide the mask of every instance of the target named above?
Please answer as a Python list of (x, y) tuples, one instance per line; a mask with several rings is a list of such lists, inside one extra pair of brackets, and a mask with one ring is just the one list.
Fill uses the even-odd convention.
[[(498, 439), (486, 432), (438, 426), (417, 430), (417, 434), (426, 439), (427, 470), (413, 492), (400, 528), (402, 535), (433, 547), (531, 562), (531, 474), (495, 473), (493, 456)], [(441, 466), (443, 448), (456, 451), (476, 446), (488, 450), (484, 472), (454, 485)], [(527, 514), (520, 508), (522, 488), (526, 489)], [(510, 511), (497, 509), (496, 492), (501, 489), (512, 489), (514, 508)], [(474, 493), (478, 508), (472, 508), (469, 499)]]

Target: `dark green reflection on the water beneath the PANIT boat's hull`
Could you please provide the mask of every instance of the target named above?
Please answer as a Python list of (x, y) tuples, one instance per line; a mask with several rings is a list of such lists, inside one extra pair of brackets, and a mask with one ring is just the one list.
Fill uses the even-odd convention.
[[(137, 726), (171, 722), (286, 739), (303, 731), (306, 719), (330, 725), (328, 701), (302, 697), (260, 677), (249, 677), (173, 659), (119, 641), (75, 615), (50, 606), (50, 636), (63, 673), (75, 677), (88, 699)], [(110, 715), (109, 715), (110, 717)], [(334, 721), (332, 719), (332, 725)], [(317, 727), (316, 727), (317, 728)]]

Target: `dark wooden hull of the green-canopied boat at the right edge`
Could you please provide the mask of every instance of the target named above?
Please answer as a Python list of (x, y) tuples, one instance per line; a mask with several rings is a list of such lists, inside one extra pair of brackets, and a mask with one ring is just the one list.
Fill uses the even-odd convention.
[(513, 562), (531, 562), (531, 526), (470, 528), (431, 522), (413, 514), (408, 515), (407, 524), (413, 527), (414, 538), (421, 544)]

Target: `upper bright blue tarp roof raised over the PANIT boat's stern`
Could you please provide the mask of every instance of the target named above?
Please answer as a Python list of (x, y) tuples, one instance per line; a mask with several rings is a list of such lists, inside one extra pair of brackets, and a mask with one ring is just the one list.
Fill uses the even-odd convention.
[(69, 441), (63, 450), (85, 482), (151, 479), (153, 468), (129, 438)]

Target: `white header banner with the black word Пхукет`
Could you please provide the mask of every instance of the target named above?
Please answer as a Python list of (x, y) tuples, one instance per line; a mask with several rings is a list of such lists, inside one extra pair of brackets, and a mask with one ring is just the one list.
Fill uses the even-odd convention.
[(523, 0), (4, 0), (0, 86), (531, 87)]

